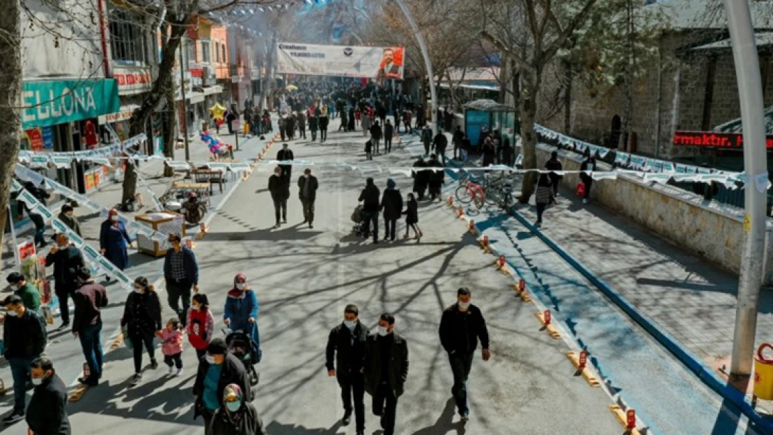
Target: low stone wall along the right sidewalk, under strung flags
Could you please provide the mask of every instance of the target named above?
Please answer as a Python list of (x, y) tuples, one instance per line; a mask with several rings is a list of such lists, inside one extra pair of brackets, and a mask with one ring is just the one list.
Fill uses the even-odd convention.
[[(537, 167), (543, 168), (550, 152), (557, 148), (537, 146)], [(579, 171), (582, 158), (571, 151), (559, 150), (566, 171)], [(604, 163), (600, 170), (611, 169)], [(567, 174), (562, 184), (574, 192), (577, 174)], [(677, 189), (671, 185), (645, 184), (635, 175), (618, 175), (616, 180), (595, 181), (591, 199), (608, 209), (634, 220), (700, 257), (739, 274), (743, 249), (743, 210)], [(766, 256), (773, 253), (773, 221), (768, 219)], [(764, 285), (773, 285), (773, 261), (765, 262)]]

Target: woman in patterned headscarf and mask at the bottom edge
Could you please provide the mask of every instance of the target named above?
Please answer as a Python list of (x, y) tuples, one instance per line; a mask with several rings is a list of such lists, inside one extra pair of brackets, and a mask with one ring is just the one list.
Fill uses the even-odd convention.
[(255, 406), (244, 400), (237, 384), (223, 389), (223, 406), (212, 417), (209, 435), (265, 435), (261, 416)]

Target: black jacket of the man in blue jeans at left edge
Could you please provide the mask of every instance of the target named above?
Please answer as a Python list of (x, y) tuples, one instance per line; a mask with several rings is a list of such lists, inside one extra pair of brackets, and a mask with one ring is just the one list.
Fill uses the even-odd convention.
[(46, 321), (29, 309), (22, 317), (5, 316), (2, 337), (5, 359), (32, 361), (46, 350)]

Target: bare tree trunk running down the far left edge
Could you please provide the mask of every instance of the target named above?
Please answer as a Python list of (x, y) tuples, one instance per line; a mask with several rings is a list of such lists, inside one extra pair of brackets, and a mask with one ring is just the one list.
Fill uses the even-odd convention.
[[(11, 180), (19, 157), (19, 116), (15, 107), (22, 105), (22, 16), (20, 0), (8, 0), (0, 14), (0, 246), (11, 194)], [(2, 266), (2, 263), (0, 263)]]

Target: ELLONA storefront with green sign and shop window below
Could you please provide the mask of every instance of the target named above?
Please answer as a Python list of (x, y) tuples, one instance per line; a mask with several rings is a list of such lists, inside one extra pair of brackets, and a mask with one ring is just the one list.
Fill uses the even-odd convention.
[[(87, 161), (56, 161), (56, 153), (100, 148), (99, 118), (120, 110), (116, 80), (36, 80), (23, 83), (21, 149), (53, 153), (36, 162), (49, 178), (85, 193), (106, 178), (106, 168)], [(97, 181), (99, 180), (99, 181)]]

